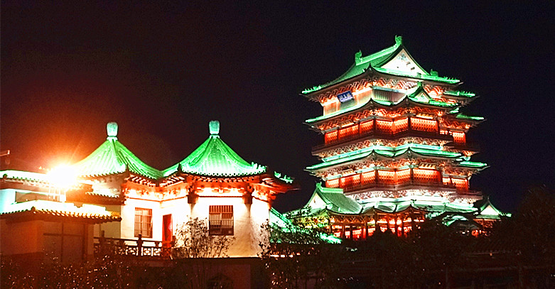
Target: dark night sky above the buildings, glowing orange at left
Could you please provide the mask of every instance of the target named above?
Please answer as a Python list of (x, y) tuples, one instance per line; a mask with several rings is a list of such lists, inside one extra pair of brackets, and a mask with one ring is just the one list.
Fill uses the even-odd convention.
[(41, 2), (1, 2), (0, 146), (12, 168), (81, 160), (117, 121), (119, 141), (164, 169), (217, 119), (239, 156), (296, 178), (301, 190), (274, 204), (295, 209), (318, 181), (303, 168), (323, 141), (303, 124), (321, 107), (299, 93), (400, 35), (425, 70), (480, 96), (461, 109), (487, 119), (468, 136), (473, 160), (490, 165), (473, 190), (514, 211), (531, 185), (555, 187), (552, 1)]

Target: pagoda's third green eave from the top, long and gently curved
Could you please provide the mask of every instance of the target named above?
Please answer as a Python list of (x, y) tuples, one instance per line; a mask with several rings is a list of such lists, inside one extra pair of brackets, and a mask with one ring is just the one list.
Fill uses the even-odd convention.
[(379, 156), (384, 156), (387, 158), (394, 158), (402, 156), (405, 153), (416, 153), (421, 156), (431, 156), (438, 158), (458, 158), (462, 156), (461, 153), (454, 153), (451, 151), (443, 151), (440, 146), (428, 146), (421, 145), (419, 143), (406, 143), (401, 146), (369, 146), (367, 148), (362, 148), (357, 151), (352, 151), (348, 153), (342, 153), (336, 156), (330, 156), (328, 158), (323, 158), (323, 163), (318, 163), (316, 165), (311, 165), (306, 168), (307, 170), (318, 170), (320, 168), (327, 168), (332, 165), (339, 165), (341, 163), (347, 163), (352, 160), (359, 160), (370, 156), (375, 153)]

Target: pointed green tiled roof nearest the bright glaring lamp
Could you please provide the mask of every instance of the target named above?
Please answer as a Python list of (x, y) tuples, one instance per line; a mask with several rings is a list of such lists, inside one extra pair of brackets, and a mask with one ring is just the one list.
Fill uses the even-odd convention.
[(108, 137), (87, 158), (73, 165), (77, 174), (85, 176), (112, 175), (129, 170), (131, 173), (156, 180), (161, 178), (159, 170), (143, 163), (117, 140), (117, 124), (107, 124)]

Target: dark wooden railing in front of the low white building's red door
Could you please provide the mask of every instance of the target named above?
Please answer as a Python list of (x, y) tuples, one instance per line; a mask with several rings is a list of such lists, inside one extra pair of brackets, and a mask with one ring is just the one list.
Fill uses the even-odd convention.
[(95, 255), (115, 253), (120, 256), (139, 256), (151, 258), (171, 258), (173, 241), (151, 241), (139, 239), (94, 238)]

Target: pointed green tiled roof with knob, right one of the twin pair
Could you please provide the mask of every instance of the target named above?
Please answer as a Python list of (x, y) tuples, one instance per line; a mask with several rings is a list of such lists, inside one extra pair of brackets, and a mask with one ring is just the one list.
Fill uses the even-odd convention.
[(163, 176), (176, 173), (179, 166), (183, 173), (222, 177), (258, 175), (266, 172), (264, 165), (247, 163), (237, 155), (220, 139), (219, 130), (220, 123), (211, 121), (210, 137), (187, 158), (163, 170)]

